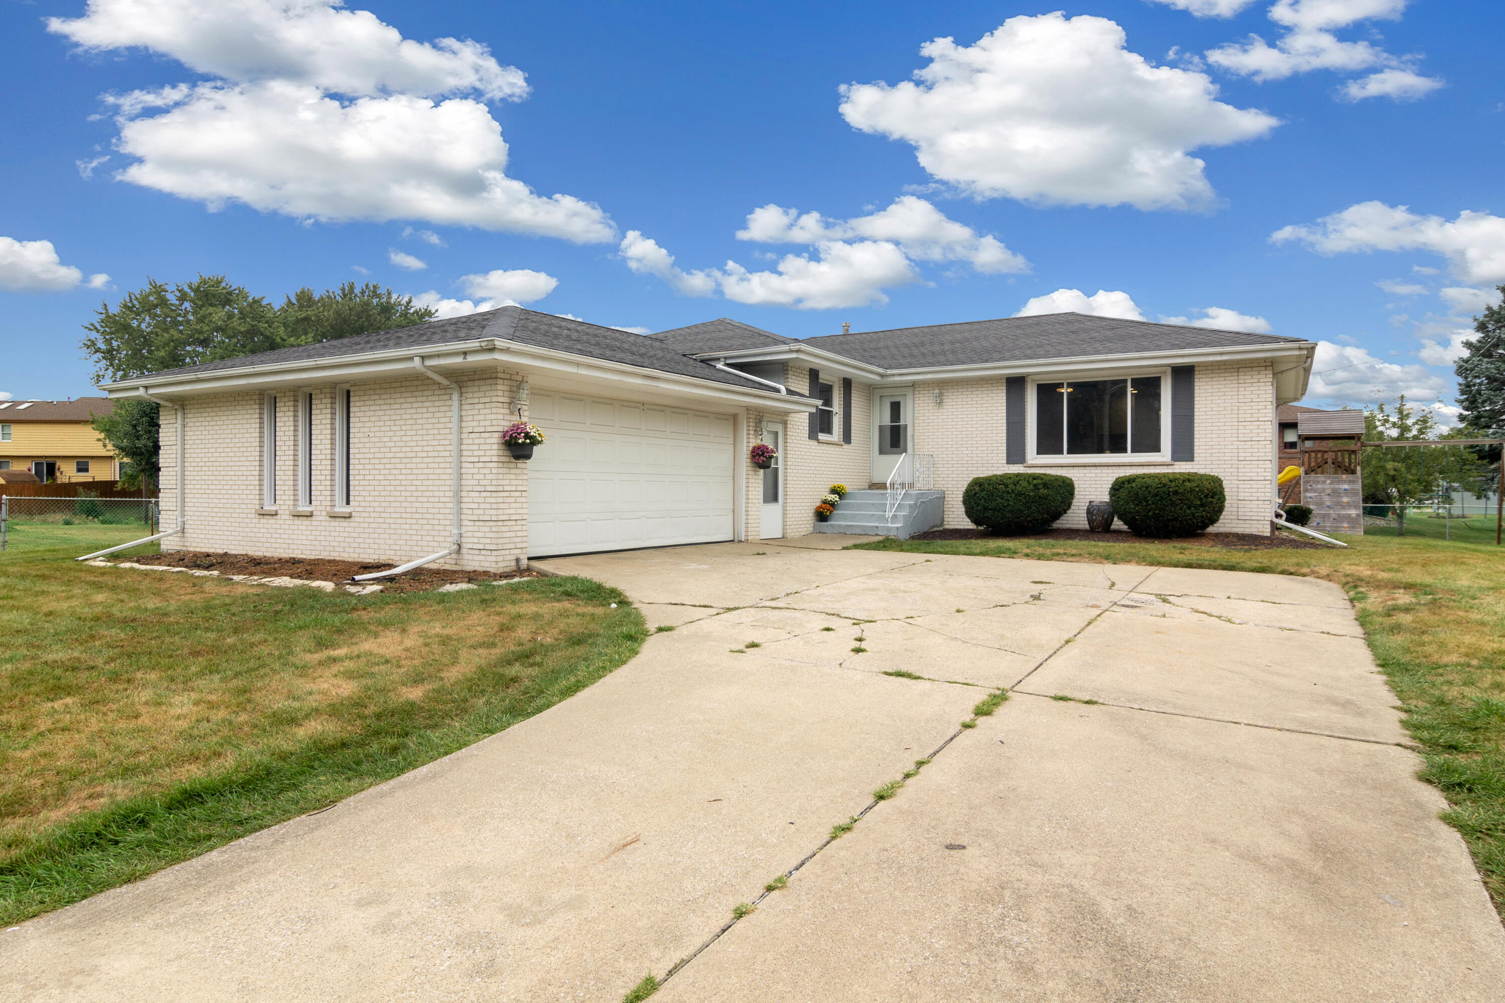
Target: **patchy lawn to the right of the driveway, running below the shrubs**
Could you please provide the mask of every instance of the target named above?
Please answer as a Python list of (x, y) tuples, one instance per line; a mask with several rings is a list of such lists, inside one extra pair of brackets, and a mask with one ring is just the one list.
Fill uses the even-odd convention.
[[(1407, 525), (1409, 528), (1409, 525)], [(864, 550), (1032, 561), (1150, 564), (1305, 574), (1353, 598), (1376, 662), (1406, 711), (1473, 860), (1505, 913), (1505, 547), (1427, 538), (1342, 537), (1347, 550), (1225, 550), (1174, 541), (877, 540)]]

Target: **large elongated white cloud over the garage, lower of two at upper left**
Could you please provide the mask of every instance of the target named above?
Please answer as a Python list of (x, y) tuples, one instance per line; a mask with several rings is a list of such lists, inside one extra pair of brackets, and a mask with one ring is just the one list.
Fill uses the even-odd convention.
[[(157, 92), (169, 111), (120, 117), (123, 180), (206, 203), (327, 221), (426, 220), (482, 230), (610, 241), (594, 205), (507, 177), (486, 105), (393, 95), (336, 101), (283, 80)], [(137, 95), (135, 107), (143, 107)]]

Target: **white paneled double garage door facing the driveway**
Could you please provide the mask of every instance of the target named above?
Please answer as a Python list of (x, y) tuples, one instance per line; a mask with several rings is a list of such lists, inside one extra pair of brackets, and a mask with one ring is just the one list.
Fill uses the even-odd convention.
[(731, 417), (534, 389), (528, 553), (731, 540)]

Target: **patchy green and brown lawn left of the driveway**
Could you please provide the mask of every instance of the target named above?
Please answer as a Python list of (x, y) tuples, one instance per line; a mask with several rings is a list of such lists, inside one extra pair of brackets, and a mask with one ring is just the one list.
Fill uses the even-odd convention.
[(578, 577), (357, 597), (68, 559), (102, 529), (0, 555), (0, 925), (510, 728), (647, 636)]

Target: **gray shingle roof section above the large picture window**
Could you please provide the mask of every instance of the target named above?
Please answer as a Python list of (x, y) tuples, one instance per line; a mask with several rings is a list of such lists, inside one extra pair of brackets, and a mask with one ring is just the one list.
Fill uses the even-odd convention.
[(1050, 313), (1037, 317), (969, 320), (894, 331), (826, 334), (805, 338), (801, 344), (880, 368), (929, 368), (1279, 344), (1299, 343), (1300, 340), (1273, 334), (1093, 317), (1081, 313)]

